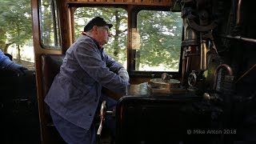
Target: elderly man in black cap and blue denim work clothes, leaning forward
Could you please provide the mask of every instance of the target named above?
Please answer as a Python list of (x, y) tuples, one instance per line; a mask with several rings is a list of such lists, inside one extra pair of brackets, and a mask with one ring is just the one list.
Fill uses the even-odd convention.
[(85, 34), (66, 51), (59, 74), (46, 95), (50, 114), (59, 134), (67, 143), (96, 143), (94, 115), (103, 100), (115, 101), (102, 94), (102, 87), (125, 94), (129, 75), (110, 58), (103, 47), (110, 38), (108, 24), (96, 17), (84, 27)]

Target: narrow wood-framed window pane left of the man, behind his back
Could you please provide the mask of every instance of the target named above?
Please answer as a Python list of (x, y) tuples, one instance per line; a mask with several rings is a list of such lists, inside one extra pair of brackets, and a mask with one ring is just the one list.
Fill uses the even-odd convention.
[(58, 12), (55, 0), (41, 0), (41, 42), (44, 47), (60, 50)]

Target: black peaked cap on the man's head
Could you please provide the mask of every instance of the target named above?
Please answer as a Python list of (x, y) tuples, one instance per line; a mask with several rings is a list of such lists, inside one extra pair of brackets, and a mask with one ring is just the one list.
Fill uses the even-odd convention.
[(96, 17), (90, 20), (90, 22), (88, 22), (86, 24), (86, 26), (84, 27), (84, 32), (87, 32), (89, 30), (91, 30), (94, 26), (109, 26), (109, 28), (111, 28), (113, 25), (107, 23), (104, 18), (101, 17)]

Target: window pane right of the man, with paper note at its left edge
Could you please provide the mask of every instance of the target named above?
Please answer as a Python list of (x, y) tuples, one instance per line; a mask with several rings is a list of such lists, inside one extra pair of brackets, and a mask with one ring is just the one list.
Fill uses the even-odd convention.
[(170, 11), (142, 10), (132, 30), (135, 70), (178, 71), (182, 18)]

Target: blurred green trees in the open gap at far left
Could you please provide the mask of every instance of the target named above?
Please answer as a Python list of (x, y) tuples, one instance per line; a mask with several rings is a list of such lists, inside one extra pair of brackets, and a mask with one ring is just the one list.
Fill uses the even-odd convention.
[(0, 46), (5, 53), (15, 44), (20, 47), (32, 38), (30, 0), (0, 0)]

